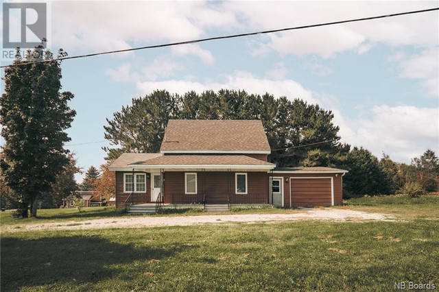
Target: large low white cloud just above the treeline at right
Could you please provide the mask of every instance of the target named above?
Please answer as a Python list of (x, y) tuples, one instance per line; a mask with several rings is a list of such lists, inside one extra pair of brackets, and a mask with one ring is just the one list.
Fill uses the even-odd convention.
[(378, 157), (384, 151), (392, 160), (410, 163), (427, 148), (439, 153), (438, 113), (439, 108), (375, 106), (370, 119), (348, 119), (340, 125), (346, 137), (342, 142), (363, 146)]

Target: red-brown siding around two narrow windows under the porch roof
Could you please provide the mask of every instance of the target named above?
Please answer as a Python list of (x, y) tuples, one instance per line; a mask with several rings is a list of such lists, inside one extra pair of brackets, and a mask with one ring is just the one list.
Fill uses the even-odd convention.
[(185, 173), (165, 172), (165, 204), (202, 203), (227, 204), (230, 193), (231, 204), (268, 204), (268, 174), (247, 173), (247, 194), (235, 194), (235, 172), (197, 173), (197, 193), (185, 194)]

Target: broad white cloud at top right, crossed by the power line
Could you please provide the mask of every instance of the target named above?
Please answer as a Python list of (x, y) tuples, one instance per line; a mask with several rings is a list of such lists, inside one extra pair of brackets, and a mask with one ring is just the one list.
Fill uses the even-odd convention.
[[(434, 1), (283, 1), (226, 2), (248, 29), (276, 29), (316, 23), (359, 19), (395, 12), (420, 10), (436, 6)], [(266, 42), (265, 40), (267, 40)], [(262, 38), (256, 52), (274, 49), (281, 54), (298, 56), (318, 54), (331, 58), (336, 53), (357, 49), (364, 53), (374, 43), (431, 47), (438, 44), (438, 14), (427, 12), (387, 19), (345, 23), (326, 27), (299, 29)]]

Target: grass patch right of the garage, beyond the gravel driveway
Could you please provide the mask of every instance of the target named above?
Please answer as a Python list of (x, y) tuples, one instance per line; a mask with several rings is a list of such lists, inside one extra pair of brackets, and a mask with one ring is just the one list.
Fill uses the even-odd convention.
[(403, 219), (439, 220), (439, 195), (408, 197), (405, 195), (380, 195), (344, 200), (343, 208), (366, 212), (381, 212)]

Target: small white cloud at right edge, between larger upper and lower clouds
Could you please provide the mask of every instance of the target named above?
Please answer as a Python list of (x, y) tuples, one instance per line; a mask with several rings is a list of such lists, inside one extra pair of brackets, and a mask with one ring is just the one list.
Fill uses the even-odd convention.
[(439, 96), (439, 50), (428, 49), (401, 62), (401, 76), (423, 80), (428, 95)]

